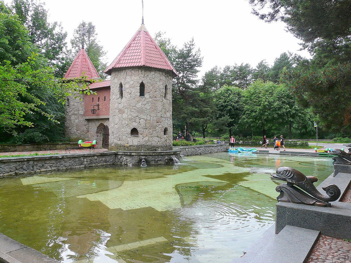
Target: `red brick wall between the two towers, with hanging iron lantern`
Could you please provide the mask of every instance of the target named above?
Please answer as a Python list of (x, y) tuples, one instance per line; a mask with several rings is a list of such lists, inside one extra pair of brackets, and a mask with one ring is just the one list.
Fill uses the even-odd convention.
[[(98, 116), (108, 116), (110, 115), (110, 87), (104, 87), (104, 88), (97, 88), (93, 89), (94, 92), (97, 93), (97, 95), (84, 95), (84, 106), (85, 106), (85, 112), (84, 116), (85, 117), (98, 117)], [(106, 97), (106, 101), (104, 100)], [(93, 102), (94, 98), (94, 102)], [(96, 105), (96, 103), (99, 101), (100, 109), (96, 112), (96, 114), (91, 113), (91, 109), (93, 108), (92, 105)], [(95, 107), (96, 109), (97, 107)]]

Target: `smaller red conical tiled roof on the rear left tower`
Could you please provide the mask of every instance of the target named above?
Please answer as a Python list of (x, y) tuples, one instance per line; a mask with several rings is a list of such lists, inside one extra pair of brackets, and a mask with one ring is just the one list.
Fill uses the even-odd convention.
[(72, 62), (72, 65), (67, 70), (64, 78), (79, 79), (83, 75), (83, 72), (84, 76), (87, 77), (87, 80), (100, 78), (99, 73), (96, 71), (84, 48), (80, 49), (78, 55)]

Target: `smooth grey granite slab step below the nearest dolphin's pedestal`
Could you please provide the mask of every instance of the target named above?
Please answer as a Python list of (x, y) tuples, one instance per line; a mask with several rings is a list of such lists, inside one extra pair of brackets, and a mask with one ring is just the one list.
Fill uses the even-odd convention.
[(264, 232), (232, 263), (303, 263), (319, 237), (319, 231), (286, 225), (275, 234), (275, 225)]

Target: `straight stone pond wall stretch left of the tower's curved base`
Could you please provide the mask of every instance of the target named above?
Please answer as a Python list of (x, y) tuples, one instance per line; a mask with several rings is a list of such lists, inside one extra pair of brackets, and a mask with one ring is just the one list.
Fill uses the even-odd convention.
[(115, 164), (115, 153), (58, 154), (0, 158), (0, 178)]

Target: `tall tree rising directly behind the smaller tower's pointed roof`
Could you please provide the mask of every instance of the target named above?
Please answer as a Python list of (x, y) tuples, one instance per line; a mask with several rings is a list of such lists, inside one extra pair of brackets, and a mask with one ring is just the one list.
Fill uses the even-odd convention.
[[(81, 32), (85, 27), (88, 27), (88, 29), (83, 39)], [(106, 79), (107, 75), (104, 73), (104, 70), (107, 67), (106, 62), (104, 61), (106, 52), (104, 47), (99, 44), (97, 35), (95, 25), (93, 25), (92, 22), (86, 23), (85, 21), (82, 21), (79, 26), (74, 29), (73, 38), (71, 40), (72, 49), (74, 50), (75, 55), (77, 55), (82, 46), (84, 46), (86, 53), (95, 69), (98, 71), (101, 79)]]

